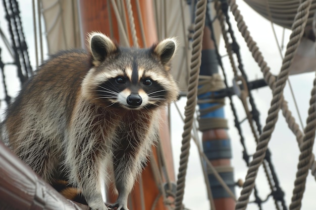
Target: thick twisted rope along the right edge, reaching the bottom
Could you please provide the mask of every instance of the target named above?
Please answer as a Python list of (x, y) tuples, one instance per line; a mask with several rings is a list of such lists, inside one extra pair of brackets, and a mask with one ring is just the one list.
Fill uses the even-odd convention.
[[(308, 14), (308, 13), (307, 13)], [(300, 209), (301, 200), (305, 190), (306, 177), (308, 168), (310, 167), (310, 160), (312, 157), (312, 148), (315, 138), (316, 129), (316, 78), (313, 83), (314, 87), (311, 91), (311, 98), (309, 100), (308, 117), (306, 120), (306, 127), (304, 129), (303, 143), (300, 145), (301, 154), (299, 155), (299, 163), (297, 165), (296, 179), (294, 182), (292, 202), (290, 210)]]

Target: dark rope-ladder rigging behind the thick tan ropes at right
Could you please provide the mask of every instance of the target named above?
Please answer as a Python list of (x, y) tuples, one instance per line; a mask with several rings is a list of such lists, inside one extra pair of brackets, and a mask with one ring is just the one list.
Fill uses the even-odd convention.
[[(247, 79), (247, 75), (243, 69), (243, 64), (242, 64), (242, 60), (241, 60), (241, 54), (240, 54), (240, 51), (239, 51), (239, 45), (237, 43), (237, 40), (234, 36), (234, 32), (232, 30), (232, 26), (231, 26), (231, 23), (230, 23), (230, 19), (229, 19), (229, 15), (228, 15), (228, 3), (225, 2), (225, 1), (222, 1), (221, 4), (219, 3), (216, 3), (216, 9), (217, 9), (217, 17), (220, 19), (220, 22), (221, 22), (221, 28), (222, 28), (222, 34), (223, 34), (223, 37), (224, 37), (224, 40), (225, 40), (225, 46), (227, 48), (227, 53), (229, 54), (229, 58), (231, 60), (234, 60), (232, 54), (236, 54), (236, 57), (237, 57), (237, 63), (239, 64), (238, 65), (238, 69), (241, 73), (241, 76), (243, 78), (243, 80), (245, 81), (245, 87), (248, 87), (248, 79)], [(210, 17), (209, 15), (206, 15), (206, 17)], [(225, 29), (225, 23), (224, 23), (224, 20), (226, 21), (226, 24), (228, 26), (228, 29), (226, 30)], [(214, 22), (214, 20), (208, 20), (208, 26), (212, 29), (212, 39), (215, 40), (215, 37), (214, 37), (214, 33), (213, 33), (213, 27), (212, 27), (212, 23)], [(231, 42), (229, 42), (228, 40), (228, 37), (227, 35), (230, 35), (230, 38), (231, 38)], [(224, 66), (223, 66), (223, 63), (222, 63), (222, 59), (221, 59), (221, 56), (218, 52), (218, 47), (216, 46), (216, 49), (217, 49), (217, 55), (218, 55), (218, 60), (219, 60), (219, 65), (220, 67), (222, 68), (222, 73), (224, 75), (224, 83), (226, 85), (226, 87), (228, 88), (228, 84), (227, 84), (227, 77), (226, 77), (226, 74), (225, 74), (225, 69), (224, 69)], [(237, 72), (237, 68), (235, 67), (234, 65), (234, 61), (231, 62), (232, 63), (232, 67), (234, 69), (234, 75), (235, 77), (238, 77), (239, 74)], [(248, 91), (247, 91), (248, 90)], [(260, 124), (260, 120), (259, 120), (259, 112), (256, 108), (256, 105), (255, 105), (255, 102), (254, 102), (254, 99), (252, 97), (252, 94), (251, 94), (251, 91), (249, 89), (247, 90), (243, 90), (243, 91), (246, 91), (246, 94), (248, 96), (248, 100), (249, 100), (249, 103), (250, 103), (250, 106), (251, 106), (251, 111), (247, 110), (247, 99), (246, 97), (240, 97), (240, 99), (243, 101), (243, 104), (244, 104), (244, 108), (245, 108), (245, 111), (247, 112), (247, 116), (250, 116), (249, 118), (249, 124), (250, 126), (252, 127), (252, 132), (254, 134), (254, 138), (256, 139), (256, 142), (257, 142), (257, 133), (256, 131), (253, 129), (253, 122), (252, 120), (255, 122), (256, 124), (256, 128), (257, 128), (257, 131), (258, 131), (258, 134), (261, 134), (262, 133), (262, 130), (261, 130), (261, 124)], [(241, 129), (241, 122), (240, 120), (238, 119), (238, 115), (237, 115), (237, 112), (236, 112), (236, 109), (235, 109), (235, 105), (233, 103), (233, 100), (232, 100), (232, 97), (229, 96), (229, 100), (230, 100), (230, 106), (231, 106), (231, 109), (232, 109), (232, 112), (234, 114), (234, 118), (235, 118), (235, 126), (238, 130), (238, 133), (240, 135), (240, 142), (242, 144), (242, 147), (243, 147), (243, 159), (245, 160), (247, 166), (249, 166), (249, 160), (250, 160), (250, 155), (247, 153), (247, 149), (246, 149), (246, 145), (245, 145), (245, 139), (244, 139), (244, 136), (243, 136), (243, 133), (242, 133), (242, 129)], [(281, 206), (278, 204), (278, 201), (281, 202), (282, 204), (282, 209), (287, 209), (286, 205), (285, 205), (285, 201), (284, 201), (284, 192), (282, 191), (280, 185), (279, 185), (279, 181), (278, 181), (278, 178), (277, 178), (277, 175), (276, 175), (276, 172), (275, 172), (275, 169), (274, 169), (274, 166), (271, 162), (271, 159), (270, 159), (270, 151), (269, 149), (267, 150), (267, 155), (265, 156), (265, 161), (264, 161), (264, 169), (265, 169), (265, 173), (266, 173), (266, 176), (268, 178), (268, 181), (269, 181), (269, 185), (270, 185), (270, 188), (271, 188), (271, 193), (267, 196), (267, 198), (265, 200), (262, 200), (259, 196), (258, 196), (258, 193), (257, 193), (257, 188), (254, 187), (254, 197), (255, 197), (255, 200), (253, 202), (257, 203), (259, 209), (262, 208), (261, 206), (261, 203), (268, 200), (269, 196), (273, 196), (273, 198), (275, 199), (275, 205), (276, 205), (276, 208), (277, 209), (281, 209)]]

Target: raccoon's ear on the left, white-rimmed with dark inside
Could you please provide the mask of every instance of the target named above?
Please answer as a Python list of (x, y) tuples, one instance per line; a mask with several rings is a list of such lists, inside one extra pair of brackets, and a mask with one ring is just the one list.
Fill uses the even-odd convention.
[(89, 48), (93, 64), (99, 65), (109, 54), (117, 50), (117, 45), (106, 35), (92, 32), (89, 34)]

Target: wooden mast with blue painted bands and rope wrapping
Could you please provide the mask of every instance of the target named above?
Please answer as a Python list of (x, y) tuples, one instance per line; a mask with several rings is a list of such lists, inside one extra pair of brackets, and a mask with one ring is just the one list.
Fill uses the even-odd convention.
[[(203, 30), (203, 40), (202, 40), (202, 63), (204, 63), (203, 69), (201, 68), (200, 75), (203, 76), (213, 76), (218, 74), (218, 66), (216, 62), (216, 66), (214, 64), (210, 64), (214, 61), (217, 61), (215, 54), (212, 55), (212, 51), (214, 52), (215, 46), (214, 41), (211, 38), (211, 31), (208, 26), (204, 27)], [(203, 60), (204, 59), (204, 60)], [(207, 95), (208, 93), (206, 93)], [(204, 94), (205, 95), (205, 94)], [(199, 97), (199, 96), (198, 96)], [(217, 105), (217, 103), (206, 103), (203, 105), (203, 108), (211, 107)], [(201, 109), (201, 104), (199, 104)], [(201, 118), (209, 118), (209, 120), (216, 119), (224, 119), (224, 108), (218, 108), (214, 111), (211, 111), (205, 115), (201, 115)], [(233, 178), (233, 168), (231, 167), (232, 158), (231, 155), (231, 147), (230, 147), (230, 137), (227, 133), (227, 128), (216, 127), (202, 130), (202, 145), (203, 151), (207, 156), (210, 163), (215, 167), (220, 176), (223, 178), (224, 182), (228, 185), (228, 187), (234, 192), (234, 178)], [(209, 187), (213, 193), (213, 200), (215, 209), (225, 209), (225, 210), (233, 210), (235, 209), (235, 200), (226, 192), (226, 190), (221, 186), (221, 184), (217, 181), (213, 172), (207, 170)]]

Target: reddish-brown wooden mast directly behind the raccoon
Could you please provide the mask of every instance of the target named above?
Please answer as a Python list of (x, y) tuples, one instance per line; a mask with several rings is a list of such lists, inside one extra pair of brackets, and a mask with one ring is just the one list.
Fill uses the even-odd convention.
[[(110, 1), (110, 0), (108, 0)], [(113, 39), (117, 40), (120, 43), (119, 37), (119, 29), (118, 29), (118, 21), (116, 19), (112, 4), (108, 1), (104, 0), (95, 0), (95, 1), (84, 1), (80, 0), (80, 13), (81, 13), (81, 25), (82, 25), (82, 37), (86, 37), (86, 34), (91, 31), (99, 31), (101, 33), (111, 35), (111, 30), (113, 34)], [(140, 31), (140, 22), (137, 21), (137, 11), (136, 11), (136, 1), (132, 1), (132, 9), (133, 9), (133, 16), (135, 20), (135, 27), (138, 35), (138, 44), (140, 47), (148, 47), (157, 40), (157, 34), (155, 30), (155, 23), (153, 18), (153, 8), (151, 1), (139, 1), (140, 4), (140, 11), (143, 21), (144, 33), (146, 43), (143, 43), (141, 40), (141, 31)], [(109, 5), (111, 8), (109, 8)], [(110, 9), (110, 10), (109, 10)], [(126, 9), (126, 7), (125, 7)], [(111, 14), (109, 14), (111, 11)], [(112, 23), (110, 21), (112, 20)], [(126, 24), (128, 21), (126, 19)], [(112, 26), (112, 29), (110, 27)], [(127, 27), (129, 29), (129, 27)], [(131, 43), (131, 32), (128, 31), (130, 45)], [(160, 136), (162, 139), (162, 150), (164, 151), (164, 156), (166, 158), (167, 163), (167, 171), (169, 173), (170, 179), (172, 181), (175, 180), (174, 175), (174, 167), (173, 167), (173, 158), (172, 158), (172, 150), (171, 150), (171, 143), (170, 143), (170, 135), (169, 135), (169, 125), (168, 125), (168, 114), (167, 109), (162, 110), (162, 117), (160, 128)], [(153, 155), (157, 162), (157, 150), (153, 147)], [(148, 163), (145, 170), (143, 171), (141, 178), (141, 182), (137, 182), (134, 185), (133, 191), (129, 197), (129, 208), (132, 209), (151, 209), (152, 205), (155, 202), (155, 199), (160, 196), (160, 190), (156, 186), (155, 180), (153, 178), (153, 171), (151, 169), (151, 163)], [(141, 189), (142, 187), (142, 189)], [(111, 188), (111, 187), (110, 187)], [(141, 193), (143, 192), (143, 193)], [(143, 197), (142, 197), (143, 194)], [(108, 195), (108, 202), (114, 202), (116, 200), (116, 195), (112, 193), (112, 190), (107, 191)], [(142, 205), (142, 201), (144, 201), (144, 205)], [(166, 209), (167, 207), (164, 205), (164, 199), (160, 196), (158, 202), (154, 209)]]

